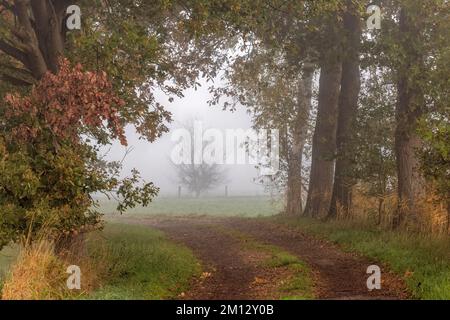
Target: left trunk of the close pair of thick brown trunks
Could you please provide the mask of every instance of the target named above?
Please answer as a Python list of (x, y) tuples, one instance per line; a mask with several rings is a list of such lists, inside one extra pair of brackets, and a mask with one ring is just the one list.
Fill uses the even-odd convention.
[(333, 191), (336, 126), (342, 63), (323, 58), (320, 71), (319, 106), (313, 137), (312, 163), (305, 215), (325, 217)]

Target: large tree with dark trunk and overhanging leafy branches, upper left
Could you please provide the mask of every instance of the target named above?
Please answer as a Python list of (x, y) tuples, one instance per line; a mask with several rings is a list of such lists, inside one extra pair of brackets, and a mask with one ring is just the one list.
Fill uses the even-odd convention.
[[(66, 28), (68, 5), (82, 10), (80, 31)], [(176, 1), (5, 0), (0, 6), (5, 81), (33, 84), (47, 71), (55, 73), (63, 56), (87, 70), (105, 71), (126, 102), (122, 121), (150, 141), (170, 121), (153, 92), (181, 97), (210, 72), (211, 48), (193, 45), (184, 27), (189, 19)]]

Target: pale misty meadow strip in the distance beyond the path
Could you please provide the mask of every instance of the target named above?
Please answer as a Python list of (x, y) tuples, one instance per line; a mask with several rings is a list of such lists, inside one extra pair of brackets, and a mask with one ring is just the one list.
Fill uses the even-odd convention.
[[(99, 210), (105, 214), (114, 214), (116, 207), (117, 202), (101, 200)], [(273, 216), (281, 210), (281, 203), (273, 202), (270, 197), (156, 198), (150, 206), (130, 209), (125, 216), (213, 215), (258, 217)]]

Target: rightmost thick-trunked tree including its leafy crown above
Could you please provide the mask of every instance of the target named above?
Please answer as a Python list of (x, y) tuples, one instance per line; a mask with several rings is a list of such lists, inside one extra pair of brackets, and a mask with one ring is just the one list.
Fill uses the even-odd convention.
[(421, 119), (444, 114), (448, 106), (448, 101), (442, 100), (448, 81), (441, 77), (448, 74), (448, 61), (444, 63), (449, 45), (448, 3), (387, 2), (386, 10), (389, 20), (380, 40), (380, 61), (394, 70), (397, 90), (395, 150), (399, 207), (393, 226), (416, 228), (422, 223), (421, 202), (428, 188), (420, 161), (425, 147), (420, 134)]

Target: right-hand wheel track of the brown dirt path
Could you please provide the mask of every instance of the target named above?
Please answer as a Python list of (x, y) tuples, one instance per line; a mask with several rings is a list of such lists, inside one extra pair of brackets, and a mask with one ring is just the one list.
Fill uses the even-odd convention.
[[(377, 261), (345, 253), (325, 241), (308, 237), (285, 226), (252, 219), (223, 222), (264, 243), (280, 246), (307, 262), (316, 272), (316, 294), (322, 299), (406, 299), (405, 285)], [(369, 292), (367, 267), (382, 270), (382, 289)]]

